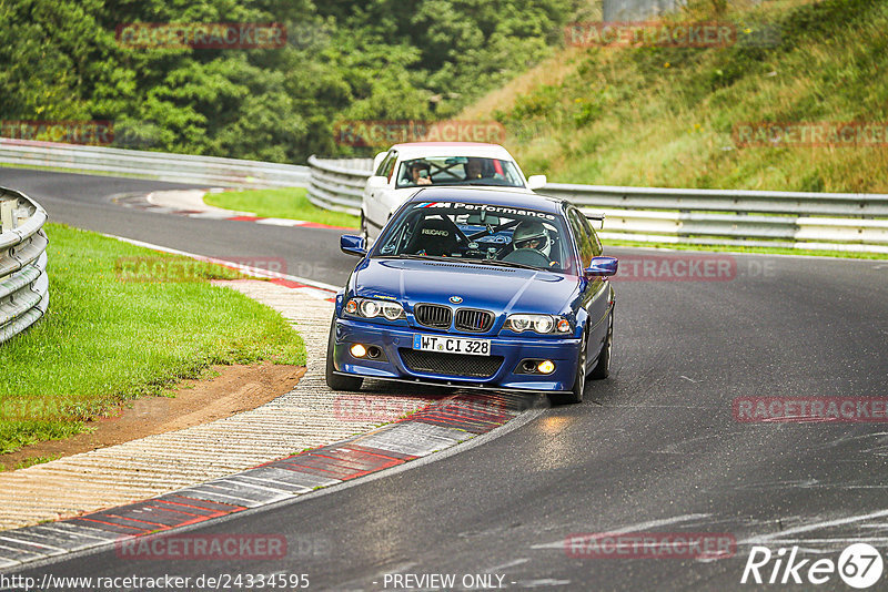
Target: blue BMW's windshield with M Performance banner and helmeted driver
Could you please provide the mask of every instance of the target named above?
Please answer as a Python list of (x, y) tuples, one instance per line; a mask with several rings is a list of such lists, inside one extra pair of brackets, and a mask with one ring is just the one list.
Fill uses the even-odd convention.
[(574, 273), (559, 214), (458, 202), (410, 204), (380, 237), (374, 257), (448, 257)]

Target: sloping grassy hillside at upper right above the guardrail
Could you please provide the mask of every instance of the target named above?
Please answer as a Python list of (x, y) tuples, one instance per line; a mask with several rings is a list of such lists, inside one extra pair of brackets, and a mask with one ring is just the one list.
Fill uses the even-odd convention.
[(734, 21), (741, 42), (568, 48), (551, 72), (531, 71), (462, 116), (501, 121), (524, 171), (554, 182), (888, 193), (885, 145), (740, 147), (731, 136), (744, 122), (888, 121), (888, 2), (713, 6), (726, 4), (672, 19)]

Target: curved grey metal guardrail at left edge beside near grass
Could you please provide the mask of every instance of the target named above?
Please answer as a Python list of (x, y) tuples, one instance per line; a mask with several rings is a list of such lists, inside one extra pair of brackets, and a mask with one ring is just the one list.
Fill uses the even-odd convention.
[(49, 307), (47, 212), (0, 187), (0, 344), (37, 323)]

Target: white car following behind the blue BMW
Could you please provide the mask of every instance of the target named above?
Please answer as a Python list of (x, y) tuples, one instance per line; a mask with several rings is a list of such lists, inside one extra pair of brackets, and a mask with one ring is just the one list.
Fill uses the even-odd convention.
[(445, 185), (538, 190), (546, 175), (524, 177), (512, 154), (497, 144), (415, 142), (395, 144), (373, 161), (361, 204), (361, 234), (370, 243), (389, 217), (422, 187)]

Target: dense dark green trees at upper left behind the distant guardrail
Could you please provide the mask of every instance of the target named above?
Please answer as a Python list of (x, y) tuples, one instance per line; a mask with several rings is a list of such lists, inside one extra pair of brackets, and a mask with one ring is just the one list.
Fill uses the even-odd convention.
[[(278, 162), (333, 126), (438, 119), (547, 54), (576, 0), (0, 0), (0, 119), (109, 120), (115, 144)], [(276, 49), (133, 48), (125, 23), (280, 22)]]

